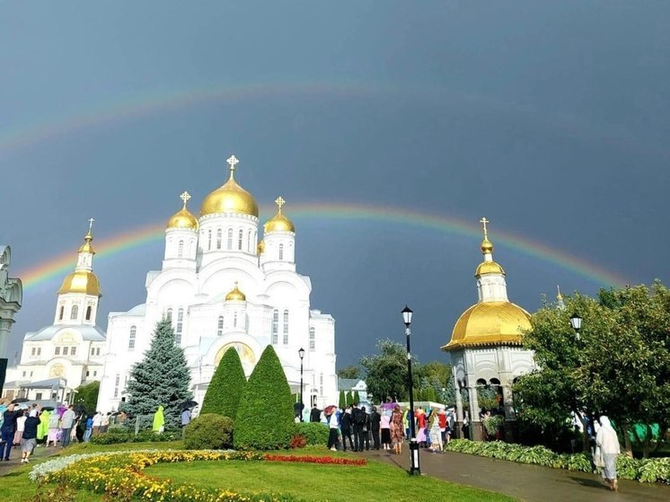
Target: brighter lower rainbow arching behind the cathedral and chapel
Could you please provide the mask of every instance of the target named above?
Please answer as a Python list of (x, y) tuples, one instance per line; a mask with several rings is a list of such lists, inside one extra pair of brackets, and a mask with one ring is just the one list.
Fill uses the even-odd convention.
[[(273, 214), (275, 208), (263, 207), (263, 214)], [(481, 238), (481, 229), (478, 224), (466, 222), (454, 216), (436, 215), (419, 212), (401, 207), (364, 206), (355, 204), (296, 204), (287, 208), (287, 216), (295, 222), (317, 219), (343, 220), (360, 222), (382, 222), (391, 225), (405, 225), (413, 228), (433, 230), (438, 233), (460, 235), (468, 238)], [(510, 232), (501, 232), (493, 227), (491, 238), (496, 245), (519, 251), (526, 256), (543, 262), (558, 265), (581, 277), (586, 277), (600, 286), (622, 286), (627, 284), (624, 277), (605, 270), (592, 262), (546, 246), (541, 242)], [(107, 239), (94, 242), (97, 260), (110, 260), (125, 251), (140, 248), (152, 242), (160, 242), (164, 238), (164, 222), (143, 225), (129, 232), (119, 233)], [(18, 272), (22, 278), (24, 291), (41, 284), (60, 280), (75, 266), (75, 252), (66, 251), (52, 260), (47, 260), (31, 269)]]

